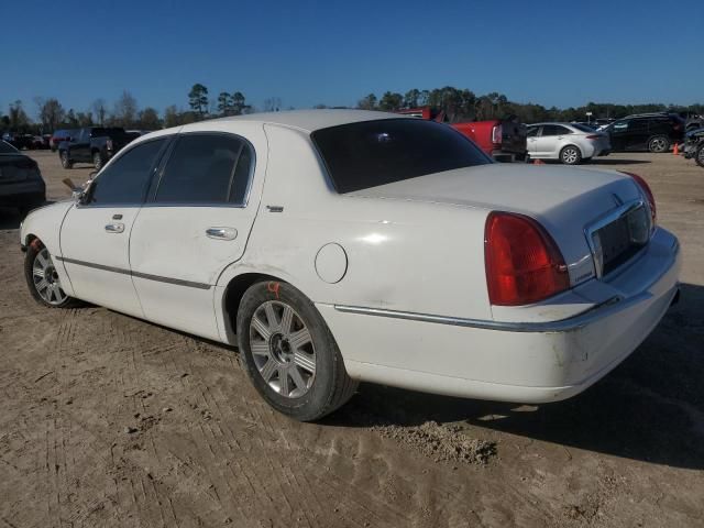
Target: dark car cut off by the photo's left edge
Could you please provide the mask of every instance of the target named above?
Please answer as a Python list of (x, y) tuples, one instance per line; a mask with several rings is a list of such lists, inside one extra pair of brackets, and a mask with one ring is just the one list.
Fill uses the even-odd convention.
[(34, 160), (0, 141), (0, 206), (14, 207), (23, 217), (46, 201), (46, 186)]

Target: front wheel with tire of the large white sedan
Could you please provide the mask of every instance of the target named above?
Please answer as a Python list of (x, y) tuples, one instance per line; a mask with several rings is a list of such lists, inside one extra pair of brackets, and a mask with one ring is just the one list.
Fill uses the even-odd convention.
[[(26, 249), (24, 256), (24, 278), (30, 294), (40, 305), (47, 308), (74, 308), (79, 301), (66, 295), (56, 274), (48, 250), (38, 239)], [(42, 284), (45, 286), (43, 287)]]

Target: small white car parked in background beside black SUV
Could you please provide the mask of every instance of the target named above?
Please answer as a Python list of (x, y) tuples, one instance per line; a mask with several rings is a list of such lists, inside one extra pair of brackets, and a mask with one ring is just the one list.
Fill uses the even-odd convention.
[(528, 127), (528, 154), (534, 160), (559, 160), (579, 165), (610, 150), (608, 135), (580, 123), (536, 123)]

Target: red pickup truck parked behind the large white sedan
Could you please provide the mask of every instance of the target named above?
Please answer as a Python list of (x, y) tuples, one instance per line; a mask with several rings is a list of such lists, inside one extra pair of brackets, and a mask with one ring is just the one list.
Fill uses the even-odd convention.
[[(397, 113), (448, 123), (443, 111), (436, 111), (430, 107), (406, 108), (398, 110)], [(526, 161), (528, 152), (526, 127), (515, 120), (492, 119), (490, 121), (468, 121), (448, 124), (462, 132), (498, 162)]]

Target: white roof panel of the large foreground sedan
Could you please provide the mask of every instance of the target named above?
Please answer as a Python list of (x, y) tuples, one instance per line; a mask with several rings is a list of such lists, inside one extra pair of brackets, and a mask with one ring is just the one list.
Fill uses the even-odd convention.
[[(280, 127), (287, 127), (298, 129), (305, 132), (315, 132), (316, 130), (327, 129), (329, 127), (337, 127), (340, 124), (359, 123), (362, 121), (375, 121), (378, 119), (417, 119), (408, 118), (406, 116), (399, 116), (388, 112), (374, 112), (369, 110), (338, 110), (338, 109), (322, 109), (322, 110), (289, 110), (285, 112), (263, 112), (263, 113), (250, 113), (246, 116), (233, 116), (230, 118), (213, 119), (213, 123), (222, 122), (255, 122), (262, 124), (275, 124)], [(208, 121), (206, 121), (208, 122)], [(198, 125), (199, 130), (202, 130), (204, 121), (193, 123)], [(191, 125), (186, 124), (183, 128), (184, 132), (187, 132)], [(194, 127), (196, 128), (196, 127)]]

